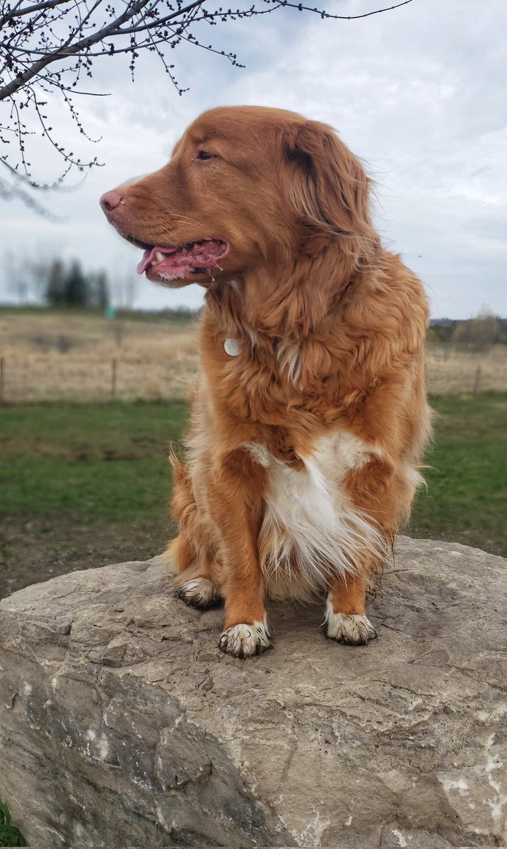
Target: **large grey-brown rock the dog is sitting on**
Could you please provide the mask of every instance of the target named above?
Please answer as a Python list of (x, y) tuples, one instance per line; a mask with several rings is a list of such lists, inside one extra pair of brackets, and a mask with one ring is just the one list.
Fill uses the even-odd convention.
[(505, 561), (400, 540), (346, 647), (273, 606), (275, 649), (160, 559), (0, 604), (0, 795), (32, 846), (499, 846), (507, 837)]

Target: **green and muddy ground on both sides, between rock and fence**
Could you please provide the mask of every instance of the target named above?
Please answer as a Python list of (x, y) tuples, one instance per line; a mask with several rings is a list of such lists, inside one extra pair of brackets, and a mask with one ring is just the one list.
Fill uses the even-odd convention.
[[(507, 393), (432, 398), (409, 532), (507, 555)], [(70, 571), (157, 554), (174, 533), (170, 441), (183, 402), (0, 409), (0, 596)]]

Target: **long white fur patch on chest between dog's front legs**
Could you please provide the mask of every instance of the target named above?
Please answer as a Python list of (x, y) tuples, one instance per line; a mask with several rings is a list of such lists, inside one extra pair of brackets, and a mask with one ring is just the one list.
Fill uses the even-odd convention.
[(248, 448), (268, 471), (259, 555), (272, 597), (320, 592), (334, 576), (353, 574), (360, 554), (381, 554), (380, 534), (343, 487), (348, 471), (380, 449), (339, 430), (321, 437), (311, 454), (299, 455), (304, 468), (294, 469), (264, 445)]

